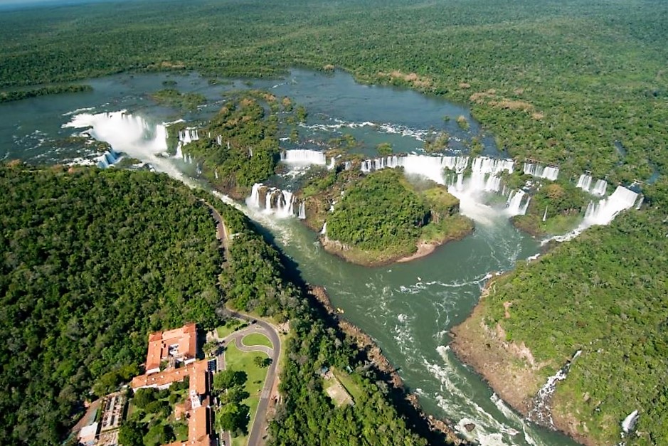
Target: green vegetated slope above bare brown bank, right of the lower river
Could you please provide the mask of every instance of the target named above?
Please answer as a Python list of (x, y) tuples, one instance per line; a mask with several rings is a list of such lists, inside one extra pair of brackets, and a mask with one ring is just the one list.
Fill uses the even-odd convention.
[[(668, 442), (667, 232), (662, 211), (627, 212), (519, 265), (481, 303), (489, 326), (500, 324), (545, 364), (541, 376), (582, 350), (557, 386), (553, 412), (597, 444), (617, 442), (635, 409), (642, 433), (630, 444)], [(504, 302), (512, 302), (509, 318)]]

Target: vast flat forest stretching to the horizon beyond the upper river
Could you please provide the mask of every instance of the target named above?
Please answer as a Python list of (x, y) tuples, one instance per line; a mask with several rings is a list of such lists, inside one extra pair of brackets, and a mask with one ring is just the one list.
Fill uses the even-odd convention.
[(127, 70), (267, 76), (336, 66), (471, 104), (518, 159), (630, 183), (666, 169), (667, 21), (661, 1), (198, 0), (4, 11), (0, 87)]

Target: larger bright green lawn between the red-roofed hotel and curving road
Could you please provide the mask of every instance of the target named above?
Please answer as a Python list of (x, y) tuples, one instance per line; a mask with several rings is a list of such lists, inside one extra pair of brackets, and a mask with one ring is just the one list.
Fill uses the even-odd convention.
[[(255, 413), (258, 411), (258, 404), (260, 403), (260, 393), (265, 383), (267, 376), (267, 368), (261, 368), (255, 365), (254, 359), (266, 358), (267, 355), (260, 351), (250, 351), (248, 353), (240, 351), (233, 344), (230, 344), (225, 351), (226, 368), (232, 370), (243, 370), (248, 375), (248, 381), (244, 386), (245, 391), (250, 393), (250, 396), (243, 401), (243, 404), (250, 407), (250, 421), (248, 428), (253, 425), (255, 420)], [(233, 446), (243, 446), (248, 443), (248, 435), (245, 437), (233, 437)]]

